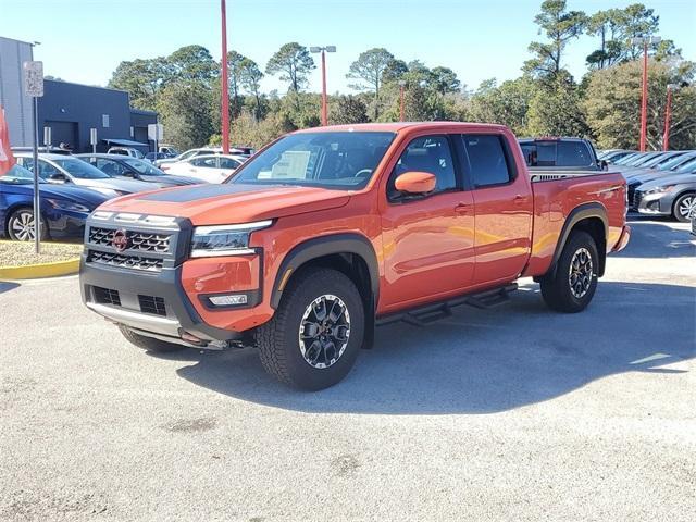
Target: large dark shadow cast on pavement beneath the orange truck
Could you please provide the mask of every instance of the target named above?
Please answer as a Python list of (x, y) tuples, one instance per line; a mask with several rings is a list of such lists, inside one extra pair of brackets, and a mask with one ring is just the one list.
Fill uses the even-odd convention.
[[(654, 321), (660, 318), (660, 321)], [(186, 350), (177, 373), (238, 399), (307, 412), (492, 413), (568, 394), (622, 372), (663, 369), (696, 355), (696, 288), (601, 282), (579, 314), (546, 309), (537, 285), (495, 310), (457, 309), (424, 328), (377, 330), (348, 377), (308, 394), (268, 376), (256, 350)]]

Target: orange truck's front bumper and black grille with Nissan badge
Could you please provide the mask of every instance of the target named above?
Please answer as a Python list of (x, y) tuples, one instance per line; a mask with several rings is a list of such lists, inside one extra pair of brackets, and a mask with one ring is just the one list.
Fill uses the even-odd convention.
[[(262, 303), (263, 251), (189, 257), (188, 220), (98, 211), (85, 229), (85, 304), (141, 335), (198, 347), (247, 337), (273, 310)], [(231, 296), (243, 299), (234, 304)]]

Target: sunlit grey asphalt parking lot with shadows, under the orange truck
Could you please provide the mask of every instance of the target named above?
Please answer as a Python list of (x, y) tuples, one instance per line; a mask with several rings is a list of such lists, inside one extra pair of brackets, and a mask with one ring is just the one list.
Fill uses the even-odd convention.
[(693, 521), (696, 248), (632, 226), (586, 312), (524, 281), (318, 394), (140, 351), (76, 277), (0, 283), (0, 519)]

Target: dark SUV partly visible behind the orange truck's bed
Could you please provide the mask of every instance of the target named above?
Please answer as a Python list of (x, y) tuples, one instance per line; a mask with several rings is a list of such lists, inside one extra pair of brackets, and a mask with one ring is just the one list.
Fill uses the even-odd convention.
[(582, 138), (523, 138), (520, 147), (531, 171), (602, 171), (592, 142)]

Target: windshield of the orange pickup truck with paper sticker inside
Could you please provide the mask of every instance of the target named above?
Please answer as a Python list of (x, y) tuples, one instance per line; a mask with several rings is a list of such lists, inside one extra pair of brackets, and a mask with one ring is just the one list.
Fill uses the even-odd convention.
[(239, 167), (229, 183), (363, 188), (394, 133), (300, 133), (286, 136)]

